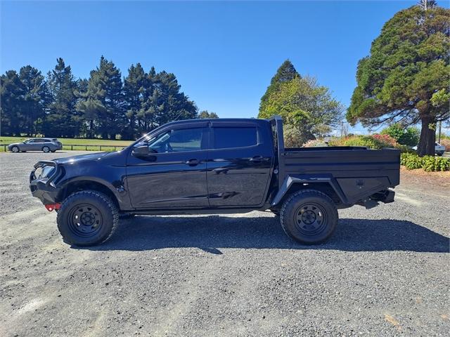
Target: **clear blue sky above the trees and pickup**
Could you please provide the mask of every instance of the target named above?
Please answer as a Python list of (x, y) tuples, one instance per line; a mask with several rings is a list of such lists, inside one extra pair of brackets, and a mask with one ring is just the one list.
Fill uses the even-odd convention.
[(30, 64), (46, 73), (62, 57), (75, 76), (89, 77), (105, 55), (122, 76), (136, 62), (173, 72), (200, 110), (257, 117), (266, 86), (289, 58), (347, 106), (358, 60), (383, 24), (413, 4), (2, 1), (0, 70)]

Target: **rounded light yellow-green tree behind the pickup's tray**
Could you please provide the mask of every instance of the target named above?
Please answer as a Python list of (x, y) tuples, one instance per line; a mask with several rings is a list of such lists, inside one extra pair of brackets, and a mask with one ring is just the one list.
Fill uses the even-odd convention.
[(259, 110), (259, 118), (281, 115), (283, 122), (294, 126), (299, 145), (307, 140), (321, 138), (337, 126), (342, 119), (343, 107), (328, 88), (319, 86), (312, 77), (297, 76), (284, 81), (271, 91), (266, 103)]

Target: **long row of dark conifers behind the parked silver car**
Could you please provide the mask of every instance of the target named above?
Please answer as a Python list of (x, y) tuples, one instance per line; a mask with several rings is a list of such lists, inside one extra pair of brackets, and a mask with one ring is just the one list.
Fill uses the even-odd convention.
[(169, 121), (198, 116), (174, 74), (157, 73), (154, 67), (147, 74), (137, 63), (122, 82), (120, 70), (103, 56), (89, 79), (75, 79), (62, 58), (47, 80), (31, 66), (0, 79), (0, 131), (8, 136), (135, 139)]

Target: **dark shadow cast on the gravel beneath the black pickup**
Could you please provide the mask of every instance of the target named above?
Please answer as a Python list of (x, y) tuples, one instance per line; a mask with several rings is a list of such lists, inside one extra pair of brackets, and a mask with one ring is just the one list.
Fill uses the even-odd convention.
[(86, 249), (145, 251), (196, 247), (214, 254), (221, 254), (221, 248), (449, 253), (449, 245), (449, 237), (402, 220), (343, 218), (328, 242), (303, 246), (290, 240), (272, 217), (136, 216), (123, 220), (110, 241)]

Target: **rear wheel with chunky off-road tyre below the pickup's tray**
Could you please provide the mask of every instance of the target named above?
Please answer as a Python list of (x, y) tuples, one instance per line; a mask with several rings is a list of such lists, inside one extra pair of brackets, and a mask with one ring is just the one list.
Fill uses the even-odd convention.
[(326, 241), (338, 224), (338, 209), (328, 195), (317, 190), (301, 190), (285, 200), (280, 212), (281, 227), (302, 244)]

